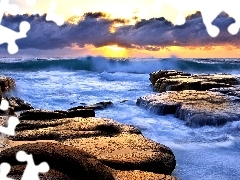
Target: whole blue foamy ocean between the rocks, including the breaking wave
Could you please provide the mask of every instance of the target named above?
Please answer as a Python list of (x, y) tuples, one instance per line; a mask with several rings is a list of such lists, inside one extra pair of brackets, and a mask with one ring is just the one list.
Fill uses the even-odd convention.
[(136, 106), (154, 93), (149, 73), (162, 69), (240, 75), (240, 59), (179, 58), (1, 58), (0, 74), (15, 79), (12, 92), (48, 110), (112, 101), (97, 117), (132, 124), (170, 147), (177, 160), (173, 175), (182, 180), (239, 180), (240, 121), (223, 127), (190, 128), (173, 115), (158, 116)]

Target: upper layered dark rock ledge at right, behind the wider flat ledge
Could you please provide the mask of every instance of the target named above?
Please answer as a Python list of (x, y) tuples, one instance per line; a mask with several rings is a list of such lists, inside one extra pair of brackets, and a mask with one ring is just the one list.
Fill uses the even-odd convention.
[(150, 74), (154, 91), (205, 91), (211, 88), (231, 87), (239, 84), (239, 79), (227, 74), (191, 75), (181, 71), (158, 71)]

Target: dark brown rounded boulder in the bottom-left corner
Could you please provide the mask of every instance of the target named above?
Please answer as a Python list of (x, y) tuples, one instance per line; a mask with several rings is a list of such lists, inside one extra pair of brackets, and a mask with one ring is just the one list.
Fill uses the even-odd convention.
[[(56, 143), (30, 143), (1, 151), (0, 162), (8, 162), (13, 168), (10, 175), (16, 176), (23, 173), (17, 171), (17, 169), (24, 169), (21, 168), (23, 166), (22, 163), (16, 160), (18, 151), (25, 151), (28, 154), (32, 154), (35, 164), (40, 164), (43, 161), (47, 162), (52, 171), (61, 172), (61, 177), (64, 175), (76, 180), (114, 180), (112, 170), (93, 156), (74, 147)], [(52, 171), (43, 176), (51, 177), (49, 173)], [(59, 175), (59, 173), (57, 174)]]

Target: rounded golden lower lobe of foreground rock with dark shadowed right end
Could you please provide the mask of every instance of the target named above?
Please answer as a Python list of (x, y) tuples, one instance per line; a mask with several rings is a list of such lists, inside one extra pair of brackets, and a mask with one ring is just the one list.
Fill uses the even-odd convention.
[(141, 170), (170, 175), (176, 162), (172, 151), (140, 134), (75, 138), (63, 141), (117, 170)]

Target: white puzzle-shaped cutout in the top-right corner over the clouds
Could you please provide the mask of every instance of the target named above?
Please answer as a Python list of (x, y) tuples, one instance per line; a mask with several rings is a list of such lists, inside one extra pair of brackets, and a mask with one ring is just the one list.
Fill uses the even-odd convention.
[[(157, 1), (157, 0), (156, 0)], [(155, 2), (156, 3), (156, 2)], [(203, 23), (206, 26), (207, 32), (210, 36), (218, 36), (220, 30), (212, 22), (217, 18), (221, 12), (227, 13), (230, 17), (235, 19), (235, 23), (228, 27), (228, 32), (236, 35), (240, 29), (240, 0), (159, 0), (159, 9), (163, 5), (168, 5), (178, 11), (177, 18), (174, 22), (176, 25), (183, 25), (186, 22), (184, 13), (189, 11), (201, 11)], [(153, 6), (156, 10), (156, 6)]]

